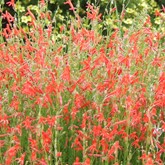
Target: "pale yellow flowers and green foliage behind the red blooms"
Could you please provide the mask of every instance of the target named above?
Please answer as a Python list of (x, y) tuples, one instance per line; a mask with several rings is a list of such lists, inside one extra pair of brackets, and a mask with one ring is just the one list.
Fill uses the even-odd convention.
[[(46, 1), (48, 9), (51, 11), (51, 17), (56, 18), (56, 30), (58, 31), (62, 24), (68, 21), (68, 17), (71, 18), (74, 13), (69, 11), (69, 5), (64, 4), (65, 0), (50, 0)], [(157, 3), (155, 0), (72, 0), (73, 5), (76, 7), (78, 14), (83, 18), (86, 16), (86, 5), (87, 3), (93, 3), (95, 6), (99, 6), (99, 11), (104, 15), (104, 21), (100, 22), (100, 28), (111, 26), (116, 28), (122, 24), (123, 29), (129, 28), (130, 25), (134, 22), (133, 20), (140, 15), (142, 12), (146, 12), (151, 16), (151, 21), (155, 27), (161, 26), (163, 20), (155, 16), (155, 11), (160, 10), (160, 2)], [(30, 20), (29, 16), (25, 16), (27, 8), (33, 11), (37, 16), (39, 15), (38, 10), (38, 0), (23, 0), (17, 1), (15, 6), (15, 11), (20, 17), (21, 26), (25, 26)], [(116, 8), (116, 11), (113, 9)], [(124, 14), (124, 17), (121, 18), (120, 15)], [(116, 21), (116, 19), (118, 21)], [(49, 21), (46, 21), (49, 24)], [(162, 30), (164, 28), (162, 27)], [(105, 32), (106, 34), (106, 32)]]

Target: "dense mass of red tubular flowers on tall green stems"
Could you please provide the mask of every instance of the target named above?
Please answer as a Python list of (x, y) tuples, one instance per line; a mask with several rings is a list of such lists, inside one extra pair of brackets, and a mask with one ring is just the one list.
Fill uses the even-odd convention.
[(2, 15), (0, 164), (163, 165), (165, 34), (141, 13), (104, 36), (99, 7), (82, 18), (71, 0), (57, 33), (47, 3), (27, 7), (26, 28)]

